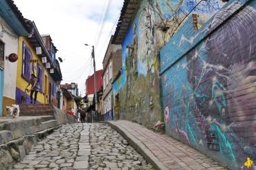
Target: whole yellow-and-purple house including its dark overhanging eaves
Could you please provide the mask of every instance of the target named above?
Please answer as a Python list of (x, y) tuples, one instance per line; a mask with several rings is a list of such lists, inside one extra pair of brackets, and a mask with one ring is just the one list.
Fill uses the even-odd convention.
[[(58, 106), (60, 105), (57, 97), (58, 87), (62, 81), (62, 73), (60, 65), (55, 59), (57, 49), (50, 36), (46, 37), (39, 34), (34, 22), (29, 21), (29, 25), (33, 34), (29, 37), (19, 36), (16, 103), (31, 102), (30, 93), (26, 93), (25, 88), (30, 83), (30, 74), (35, 74), (40, 86), (36, 103), (52, 103)], [(31, 85), (28, 89), (30, 88)]]

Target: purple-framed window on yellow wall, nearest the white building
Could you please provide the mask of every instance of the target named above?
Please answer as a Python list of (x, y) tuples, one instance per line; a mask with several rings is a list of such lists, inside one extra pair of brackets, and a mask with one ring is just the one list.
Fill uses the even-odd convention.
[(22, 49), (22, 76), (26, 79), (30, 79), (30, 59), (32, 58), (32, 53), (29, 50), (26, 43), (23, 43)]

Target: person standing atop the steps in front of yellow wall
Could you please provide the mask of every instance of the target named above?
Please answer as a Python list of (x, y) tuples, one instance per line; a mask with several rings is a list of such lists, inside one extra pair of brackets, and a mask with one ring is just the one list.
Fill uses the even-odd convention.
[[(31, 85), (31, 89), (27, 89), (28, 86)], [(39, 92), (40, 85), (39, 81), (37, 80), (37, 77), (35, 74), (31, 74), (30, 82), (28, 83), (27, 87), (25, 88), (25, 92), (30, 92), (30, 103), (33, 103), (33, 94), (35, 93), (35, 99), (34, 104), (37, 101), (37, 93)]]

